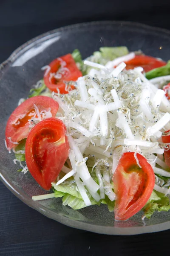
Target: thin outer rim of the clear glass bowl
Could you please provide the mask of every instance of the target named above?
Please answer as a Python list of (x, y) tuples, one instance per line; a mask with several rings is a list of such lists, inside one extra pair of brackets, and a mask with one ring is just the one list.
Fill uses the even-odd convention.
[[(92, 22), (85, 22), (85, 23), (76, 23), (68, 26), (63, 26), (57, 29), (50, 30), (48, 32), (42, 33), (26, 43), (22, 44), (20, 47), (17, 47), (11, 55), (0, 64), (0, 75), (3, 73), (3, 70), (6, 68), (8, 64), (14, 61), (14, 58), (17, 56), (17, 54), (20, 53), (21, 50), (25, 49), (32, 43), (36, 42), (37, 40), (40, 40), (42, 38), (45, 38), (48, 35), (56, 34), (57, 32), (62, 32), (62, 31), (67, 31), (68, 29), (75, 29), (75, 28), (83, 28), (86, 26), (94, 26), (94, 25), (113, 25), (113, 24), (118, 24), (118, 25), (127, 25), (127, 26), (136, 26), (138, 28), (143, 28), (143, 29), (150, 29), (155, 32), (162, 32), (163, 34), (166, 34), (170, 37), (170, 30), (168, 29), (163, 29), (163, 28), (158, 28), (142, 23), (137, 23), (137, 22), (131, 22), (131, 21), (114, 21), (114, 20), (101, 20), (101, 21), (92, 21)], [(36, 201), (30, 201), (30, 197), (25, 194), (25, 197), (21, 195), (20, 193), (17, 193), (17, 190), (15, 189), (14, 184), (11, 185), (8, 180), (1, 174), (0, 172), (0, 180), (3, 182), (3, 184), (23, 203), (28, 205), (29, 207), (37, 210), (38, 212), (42, 213), (48, 218), (54, 219), (55, 221), (58, 221), (62, 224), (65, 224), (69, 227), (74, 227), (77, 229), (81, 230), (86, 230), (86, 231), (91, 231), (94, 233), (100, 233), (100, 234), (107, 234), (107, 235), (137, 235), (137, 234), (142, 234), (142, 233), (153, 233), (153, 232), (159, 232), (163, 230), (168, 230), (170, 229), (170, 221), (163, 222), (161, 224), (154, 224), (152, 226), (141, 226), (141, 227), (107, 227), (107, 226), (100, 226), (100, 225), (95, 225), (95, 224), (87, 224), (82, 221), (77, 221), (77, 220), (72, 220), (69, 219), (65, 216), (60, 216), (57, 213), (49, 210), (47, 207), (40, 205)], [(49, 213), (51, 216), (49, 216)]]

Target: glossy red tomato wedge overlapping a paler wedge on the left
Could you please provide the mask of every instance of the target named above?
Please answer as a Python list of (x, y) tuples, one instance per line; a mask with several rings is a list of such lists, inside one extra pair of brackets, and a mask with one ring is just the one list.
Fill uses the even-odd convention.
[(67, 157), (69, 144), (63, 122), (48, 118), (31, 129), (26, 140), (26, 164), (31, 175), (49, 190), (56, 180)]

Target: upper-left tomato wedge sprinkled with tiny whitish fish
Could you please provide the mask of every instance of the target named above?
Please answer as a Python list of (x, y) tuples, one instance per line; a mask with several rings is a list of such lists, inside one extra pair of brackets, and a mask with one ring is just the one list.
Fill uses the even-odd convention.
[[(54, 92), (57, 92), (58, 88), (60, 93), (68, 93), (68, 91), (65, 90), (64, 81), (76, 81), (82, 76), (81, 71), (78, 69), (70, 53), (55, 59), (49, 66), (51, 70), (44, 75), (44, 82), (45, 85)], [(57, 76), (51, 76), (52, 73), (56, 73), (55, 75)], [(73, 85), (71, 85), (71, 89), (74, 89)]]

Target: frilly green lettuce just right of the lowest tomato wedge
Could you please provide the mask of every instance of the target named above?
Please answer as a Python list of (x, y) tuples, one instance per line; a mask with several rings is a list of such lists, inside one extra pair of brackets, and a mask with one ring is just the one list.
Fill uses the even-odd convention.
[(142, 209), (144, 211), (144, 216), (150, 218), (155, 211), (169, 211), (170, 210), (170, 200), (164, 194), (153, 191), (147, 204)]

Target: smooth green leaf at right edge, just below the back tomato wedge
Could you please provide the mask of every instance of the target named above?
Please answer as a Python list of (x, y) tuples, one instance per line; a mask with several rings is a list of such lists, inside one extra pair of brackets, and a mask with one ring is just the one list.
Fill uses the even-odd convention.
[(167, 62), (166, 66), (163, 67), (157, 67), (153, 70), (150, 70), (146, 73), (147, 79), (152, 79), (158, 76), (167, 76), (170, 75), (170, 61)]

